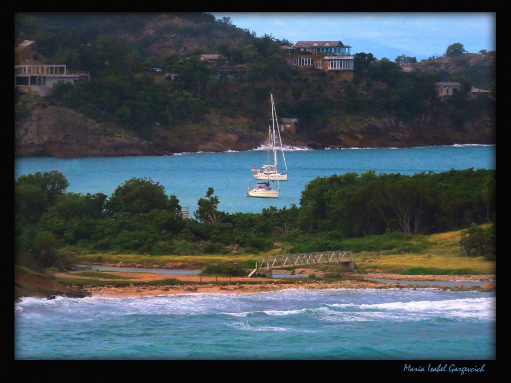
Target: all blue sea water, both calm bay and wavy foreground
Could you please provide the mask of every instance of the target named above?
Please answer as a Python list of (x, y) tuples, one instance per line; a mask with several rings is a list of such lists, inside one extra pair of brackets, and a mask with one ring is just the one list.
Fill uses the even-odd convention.
[[(271, 205), (299, 205), (301, 191), (316, 177), (496, 166), (495, 146), (462, 145), (294, 150), (286, 152), (286, 162), (289, 181), (280, 182), (277, 199), (244, 196), (249, 184), (255, 183), (250, 169), (265, 163), (265, 152), (257, 150), (165, 157), (21, 158), (15, 160), (15, 179), (59, 168), (69, 180), (68, 192), (110, 196), (132, 177), (149, 177), (176, 195), (182, 206), (189, 206), (190, 212), (208, 187), (220, 199), (219, 210), (260, 212)], [(419, 362), (427, 366), (423, 361), (454, 360), (457, 366), (480, 368), (496, 359), (494, 292), (289, 289), (25, 298), (14, 304), (14, 320), (15, 360), (406, 361), (398, 366), (403, 372), (403, 366), (408, 371), (418, 369)]]

